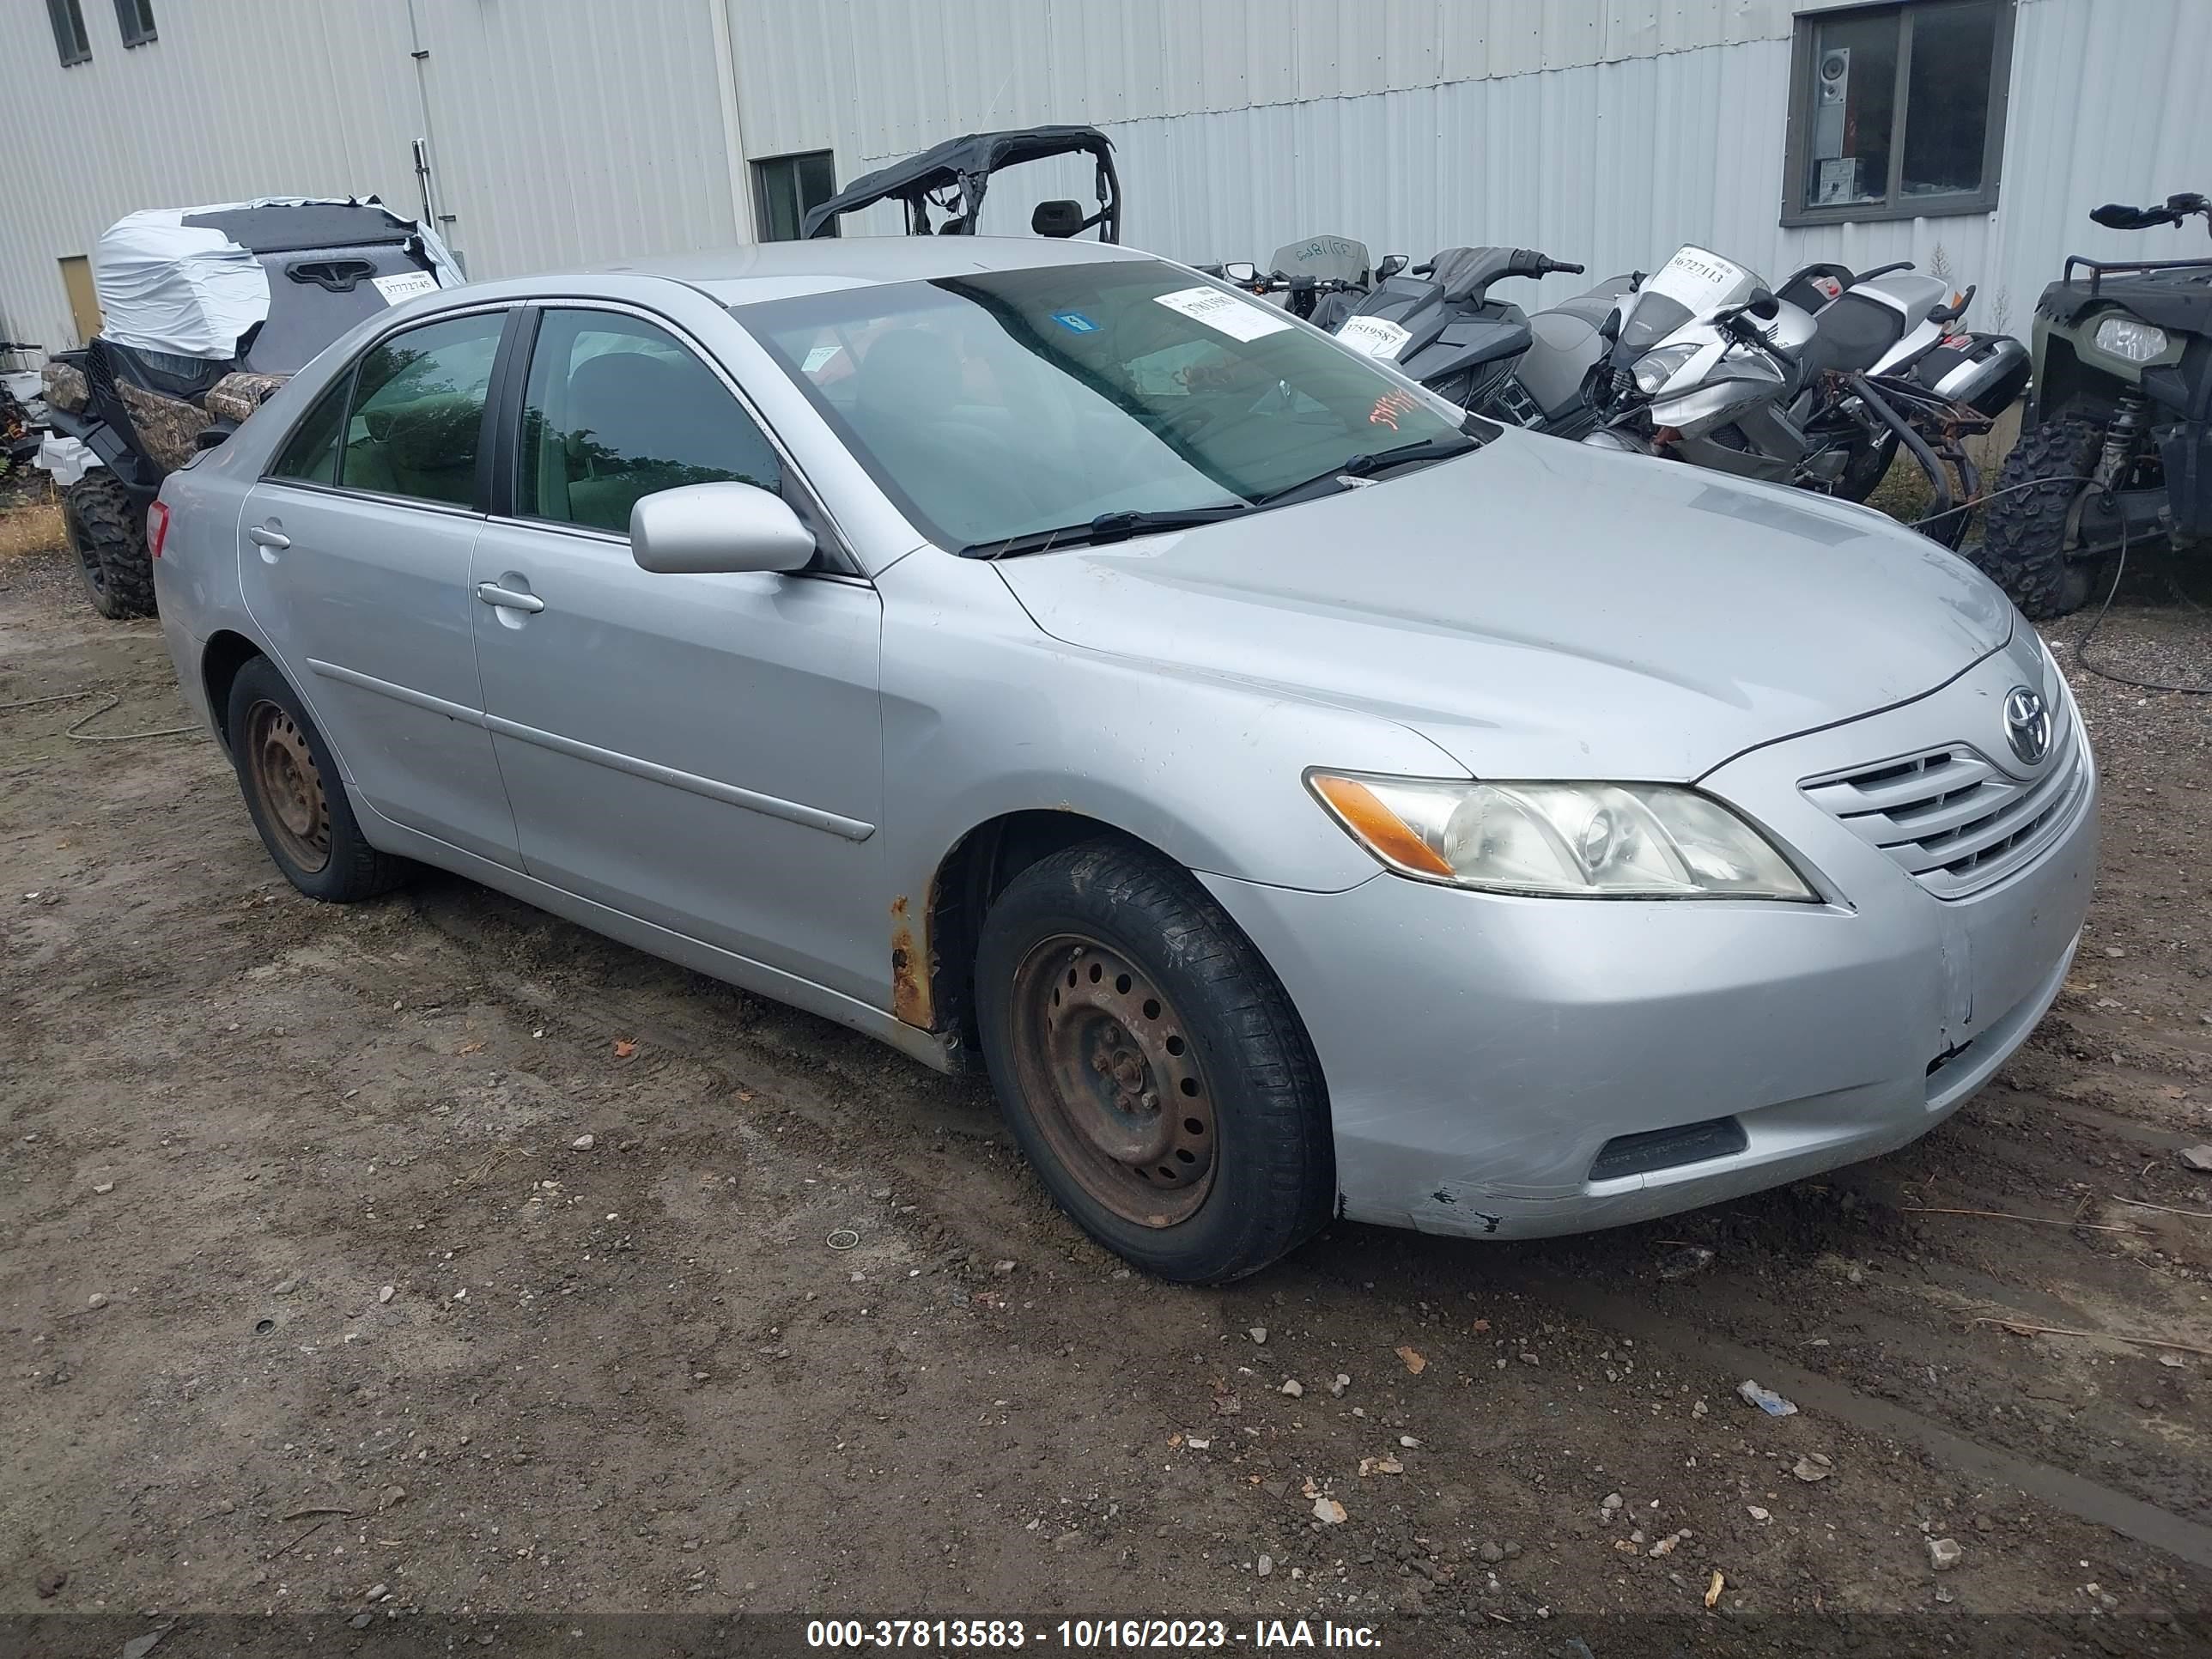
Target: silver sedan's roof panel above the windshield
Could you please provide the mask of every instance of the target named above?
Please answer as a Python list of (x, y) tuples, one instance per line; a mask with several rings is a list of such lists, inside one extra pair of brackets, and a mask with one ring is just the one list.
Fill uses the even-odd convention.
[(1048, 237), (816, 237), (717, 248), (604, 265), (606, 274), (668, 276), (712, 294), (723, 305), (748, 305), (832, 288), (874, 288), (958, 276), (975, 270), (1035, 270), (1152, 259), (1139, 248)]

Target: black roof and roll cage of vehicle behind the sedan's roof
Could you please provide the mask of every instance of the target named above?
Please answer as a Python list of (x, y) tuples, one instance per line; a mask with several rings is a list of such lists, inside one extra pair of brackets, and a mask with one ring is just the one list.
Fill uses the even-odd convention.
[[(803, 228), (807, 237), (821, 237), (847, 212), (898, 201), (907, 208), (907, 232), (914, 237), (973, 237), (991, 175), (1055, 155), (1088, 155), (1097, 164), (1093, 173), (1097, 210), (1086, 215), (1079, 201), (1040, 201), (1029, 215), (1031, 232), (1079, 237), (1097, 230), (1099, 241), (1121, 241), (1121, 177), (1113, 166), (1113, 139), (1095, 126), (1024, 126), (945, 139), (920, 155), (854, 179), (827, 201), (812, 206)], [(945, 215), (933, 226), (931, 208)]]

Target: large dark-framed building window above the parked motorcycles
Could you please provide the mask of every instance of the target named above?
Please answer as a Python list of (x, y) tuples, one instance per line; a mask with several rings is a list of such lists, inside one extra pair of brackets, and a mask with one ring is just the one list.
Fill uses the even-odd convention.
[(1783, 223), (1991, 212), (2011, 64), (2013, 0), (1798, 18)]

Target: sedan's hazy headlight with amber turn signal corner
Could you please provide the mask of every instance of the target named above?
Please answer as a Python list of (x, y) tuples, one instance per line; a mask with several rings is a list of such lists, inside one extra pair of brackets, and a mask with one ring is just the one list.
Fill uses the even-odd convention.
[(1818, 896), (1752, 825), (1674, 783), (1453, 783), (1310, 772), (1367, 852), (1422, 880), (1553, 898)]

